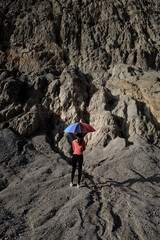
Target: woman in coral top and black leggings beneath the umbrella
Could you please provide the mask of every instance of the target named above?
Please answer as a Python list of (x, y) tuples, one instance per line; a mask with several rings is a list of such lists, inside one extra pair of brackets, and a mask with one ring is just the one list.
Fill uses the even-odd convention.
[(70, 186), (73, 187), (73, 179), (78, 163), (78, 183), (77, 188), (83, 187), (83, 184), (80, 184), (81, 181), (81, 172), (83, 164), (83, 151), (86, 149), (86, 143), (83, 139), (82, 133), (77, 133), (77, 139), (72, 142), (73, 148), (73, 159), (72, 159), (72, 173), (71, 173), (71, 183)]

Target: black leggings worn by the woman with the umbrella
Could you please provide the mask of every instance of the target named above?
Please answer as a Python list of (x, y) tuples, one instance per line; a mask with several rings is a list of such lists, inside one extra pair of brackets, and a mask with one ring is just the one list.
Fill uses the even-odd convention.
[(76, 155), (76, 154), (73, 155), (71, 182), (73, 182), (73, 179), (74, 179), (74, 174), (76, 171), (77, 163), (78, 163), (78, 184), (80, 184), (82, 164), (83, 164), (83, 155)]

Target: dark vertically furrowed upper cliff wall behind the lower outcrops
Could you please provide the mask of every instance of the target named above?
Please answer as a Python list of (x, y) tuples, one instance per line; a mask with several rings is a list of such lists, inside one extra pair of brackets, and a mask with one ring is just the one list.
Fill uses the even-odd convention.
[(117, 63), (159, 69), (158, 16), (157, 0), (2, 0), (1, 54), (7, 52), (8, 68), (27, 73), (63, 53), (84, 73), (106, 72)]

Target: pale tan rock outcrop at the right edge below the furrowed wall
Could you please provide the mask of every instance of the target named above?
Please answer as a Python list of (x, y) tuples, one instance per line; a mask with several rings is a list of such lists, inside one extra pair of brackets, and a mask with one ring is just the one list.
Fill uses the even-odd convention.
[(131, 66), (118, 65), (106, 85), (112, 92), (120, 90), (120, 98), (113, 114), (128, 126), (128, 136), (138, 134), (160, 146), (160, 74), (143, 72)]

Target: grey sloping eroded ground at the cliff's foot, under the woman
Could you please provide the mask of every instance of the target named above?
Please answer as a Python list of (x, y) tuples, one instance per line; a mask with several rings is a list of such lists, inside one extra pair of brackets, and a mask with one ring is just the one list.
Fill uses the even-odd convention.
[(29, 141), (1, 130), (0, 239), (158, 240), (160, 150), (134, 142), (88, 147), (77, 189), (44, 134)]

